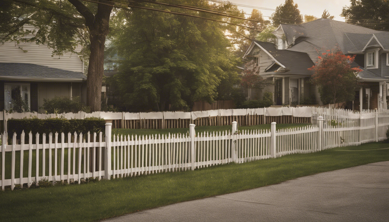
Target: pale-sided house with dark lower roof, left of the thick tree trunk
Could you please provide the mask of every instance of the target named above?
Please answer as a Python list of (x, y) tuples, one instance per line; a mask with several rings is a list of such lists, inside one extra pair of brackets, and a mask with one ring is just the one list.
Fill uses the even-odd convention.
[[(28, 30), (36, 29), (25, 25)], [(35, 30), (36, 31), (36, 30)], [(32, 34), (26, 38), (33, 37)], [(77, 49), (81, 51), (81, 46)], [(53, 56), (53, 49), (35, 42), (5, 42), (0, 45), (0, 110), (9, 110), (15, 94), (28, 101), (30, 109), (40, 109), (43, 99), (80, 96), (86, 102), (84, 63), (78, 54)], [(1, 93), (4, 92), (4, 93)]]

